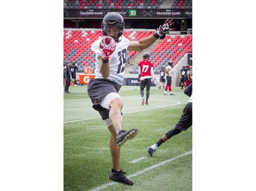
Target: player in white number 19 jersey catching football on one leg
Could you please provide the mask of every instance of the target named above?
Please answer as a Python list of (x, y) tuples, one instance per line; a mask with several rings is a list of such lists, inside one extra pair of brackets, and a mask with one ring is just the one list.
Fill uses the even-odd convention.
[[(127, 50), (141, 51), (151, 46), (156, 39), (172, 30), (173, 20), (167, 19), (154, 35), (139, 41), (129, 41), (123, 36), (124, 18), (115, 12), (109, 12), (102, 20), (102, 39), (91, 45), (96, 53), (96, 69), (94, 79), (89, 81), (87, 92), (94, 103), (93, 107), (99, 111), (102, 120), (111, 132), (109, 148), (112, 158), (112, 172), (109, 179), (122, 184), (133, 185), (120, 167), (120, 147), (128, 139), (137, 135), (139, 130), (132, 128), (124, 131), (122, 122), (123, 101), (119, 96), (119, 89), (124, 82)], [(111, 37), (111, 38), (110, 38)]]

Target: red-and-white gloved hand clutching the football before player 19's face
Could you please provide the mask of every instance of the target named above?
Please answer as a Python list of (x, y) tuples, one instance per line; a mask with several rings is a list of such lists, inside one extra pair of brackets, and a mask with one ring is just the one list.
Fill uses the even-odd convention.
[(100, 52), (102, 54), (102, 58), (107, 60), (115, 51), (115, 40), (112, 37), (104, 36), (100, 41)]

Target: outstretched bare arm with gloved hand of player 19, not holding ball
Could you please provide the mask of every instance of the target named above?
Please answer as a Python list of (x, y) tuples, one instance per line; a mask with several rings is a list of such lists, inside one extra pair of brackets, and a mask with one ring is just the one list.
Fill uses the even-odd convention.
[(160, 25), (158, 31), (154, 33), (154, 35), (150, 35), (148, 37), (140, 39), (139, 41), (130, 41), (128, 50), (141, 51), (145, 48), (148, 48), (156, 41), (156, 39), (162, 37), (162, 35), (165, 35), (168, 31), (174, 30), (171, 29), (171, 26), (173, 26), (173, 24), (173, 20), (168, 18), (167, 20), (165, 20), (164, 24)]

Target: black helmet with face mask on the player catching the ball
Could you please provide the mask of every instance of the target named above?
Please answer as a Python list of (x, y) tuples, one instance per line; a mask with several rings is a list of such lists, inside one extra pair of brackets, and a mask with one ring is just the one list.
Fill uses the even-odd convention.
[(102, 31), (104, 36), (111, 36), (115, 41), (121, 41), (124, 31), (124, 18), (115, 12), (110, 12), (102, 20)]

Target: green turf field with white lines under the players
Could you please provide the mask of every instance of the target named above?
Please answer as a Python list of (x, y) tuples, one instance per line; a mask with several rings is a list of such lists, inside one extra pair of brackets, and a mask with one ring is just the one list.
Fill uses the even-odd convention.
[(183, 90), (173, 88), (175, 95), (165, 96), (163, 89), (152, 87), (150, 105), (141, 105), (139, 88), (123, 86), (119, 91), (124, 129), (139, 129), (121, 150), (121, 167), (133, 186), (109, 181), (110, 133), (91, 107), (87, 86), (70, 86), (69, 91), (63, 94), (64, 190), (192, 190), (192, 128), (147, 156), (148, 148), (180, 119), (188, 101)]

